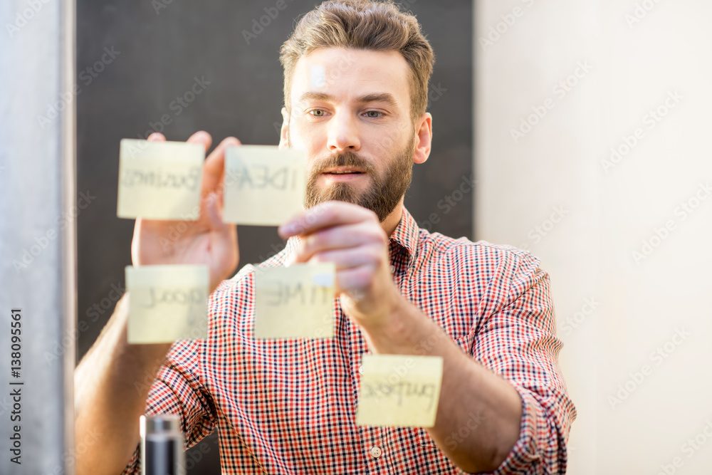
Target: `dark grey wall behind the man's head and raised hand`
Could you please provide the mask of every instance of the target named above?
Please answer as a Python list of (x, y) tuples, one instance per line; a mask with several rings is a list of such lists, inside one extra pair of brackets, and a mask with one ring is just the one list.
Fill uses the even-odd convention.
[[(130, 265), (132, 220), (116, 217), (119, 141), (159, 130), (186, 140), (207, 130), (219, 143), (278, 143), (281, 43), (295, 19), (317, 4), (286, 0), (78, 0), (78, 190), (95, 197), (78, 218), (78, 357), (105, 325)], [(472, 193), (456, 192), (472, 175), (472, 4), (467, 0), (402, 2), (413, 11), (436, 53), (429, 112), (433, 148), (416, 166), (406, 206), (426, 229), (472, 238)], [(262, 19), (256, 38), (245, 38)], [(266, 17), (268, 18), (268, 17)], [(191, 90), (192, 103), (176, 101)], [(161, 124), (161, 120), (169, 122)], [(451, 206), (444, 201), (451, 197)], [(276, 228), (239, 226), (241, 265), (283, 247)], [(214, 465), (216, 440), (202, 456)], [(191, 454), (189, 454), (190, 456)], [(193, 454), (192, 459), (196, 459)], [(189, 463), (192, 466), (192, 463)], [(200, 472), (215, 473), (206, 465)]]

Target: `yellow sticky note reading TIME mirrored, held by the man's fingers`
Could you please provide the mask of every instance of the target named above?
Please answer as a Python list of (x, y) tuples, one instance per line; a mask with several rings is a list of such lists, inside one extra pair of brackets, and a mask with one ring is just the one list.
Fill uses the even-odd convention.
[(255, 338), (333, 338), (335, 269), (333, 262), (258, 268)]

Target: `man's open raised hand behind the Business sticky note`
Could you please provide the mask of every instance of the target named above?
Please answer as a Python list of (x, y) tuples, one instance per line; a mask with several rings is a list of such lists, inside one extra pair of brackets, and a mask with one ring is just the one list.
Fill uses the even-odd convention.
[[(153, 133), (148, 140), (166, 138)], [(207, 151), (212, 137), (208, 132), (195, 132), (187, 142), (202, 144)], [(131, 243), (134, 266), (205, 264), (210, 272), (210, 293), (235, 271), (239, 262), (237, 226), (222, 221), (225, 148), (233, 145), (241, 143), (227, 137), (204, 162), (197, 221), (136, 220)]]

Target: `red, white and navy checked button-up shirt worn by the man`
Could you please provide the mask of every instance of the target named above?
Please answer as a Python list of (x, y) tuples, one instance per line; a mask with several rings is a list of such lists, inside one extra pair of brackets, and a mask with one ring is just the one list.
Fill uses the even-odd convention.
[[(290, 239), (260, 265), (283, 265), (296, 244)], [(511, 246), (430, 234), (405, 210), (389, 251), (402, 294), (519, 392), (520, 438), (495, 473), (564, 473), (576, 412), (538, 260)], [(217, 429), (223, 474), (463, 473), (425, 429), (355, 424), (368, 349), (338, 299), (335, 338), (253, 340), (254, 274), (246, 265), (211, 295), (208, 339), (173, 345), (147, 414), (179, 414), (189, 446)], [(477, 423), (472, 416), (454, 443)], [(137, 473), (137, 454), (124, 473)]]

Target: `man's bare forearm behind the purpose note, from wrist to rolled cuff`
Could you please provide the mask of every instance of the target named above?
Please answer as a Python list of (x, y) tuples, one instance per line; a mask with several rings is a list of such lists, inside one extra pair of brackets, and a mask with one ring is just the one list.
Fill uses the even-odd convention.
[[(429, 355), (443, 358), (443, 378), (435, 425), (428, 429), (438, 447), (456, 466), (470, 473), (497, 469), (519, 439), (522, 401), (502, 377), (472, 360), (444, 330), (405, 298), (394, 306), (387, 328), (365, 330), (372, 353)], [(437, 335), (438, 338), (432, 338)], [(424, 342), (434, 342), (426, 345)], [(458, 433), (476, 414), (476, 429), (452, 447), (446, 438)]]

